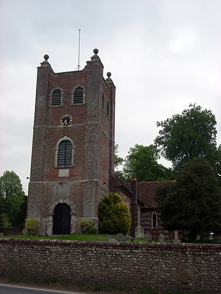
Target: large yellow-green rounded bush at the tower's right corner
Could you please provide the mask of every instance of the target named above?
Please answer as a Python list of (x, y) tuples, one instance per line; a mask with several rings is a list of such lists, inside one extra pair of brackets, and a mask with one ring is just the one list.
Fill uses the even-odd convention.
[(106, 195), (98, 207), (99, 233), (126, 235), (131, 226), (131, 214), (118, 193)]

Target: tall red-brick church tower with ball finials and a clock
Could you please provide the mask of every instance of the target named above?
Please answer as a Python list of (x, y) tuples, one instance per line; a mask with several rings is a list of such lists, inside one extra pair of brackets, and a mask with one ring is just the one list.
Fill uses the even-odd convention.
[(27, 219), (40, 235), (98, 227), (98, 204), (114, 173), (115, 86), (94, 55), (81, 71), (54, 73), (49, 56), (37, 70)]

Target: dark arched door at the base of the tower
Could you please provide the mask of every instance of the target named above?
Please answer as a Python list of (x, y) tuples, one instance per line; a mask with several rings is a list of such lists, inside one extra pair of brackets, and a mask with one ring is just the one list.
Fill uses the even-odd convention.
[(54, 209), (53, 235), (68, 235), (71, 230), (71, 207), (58, 203)]

